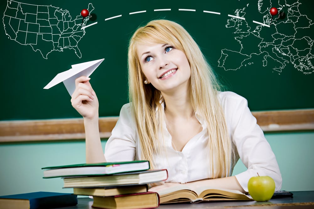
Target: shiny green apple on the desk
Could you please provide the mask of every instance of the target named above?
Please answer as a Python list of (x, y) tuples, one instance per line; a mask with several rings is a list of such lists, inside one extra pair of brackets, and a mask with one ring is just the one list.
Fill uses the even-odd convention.
[(275, 181), (269, 176), (253, 176), (249, 179), (247, 188), (253, 200), (268, 201), (275, 192)]

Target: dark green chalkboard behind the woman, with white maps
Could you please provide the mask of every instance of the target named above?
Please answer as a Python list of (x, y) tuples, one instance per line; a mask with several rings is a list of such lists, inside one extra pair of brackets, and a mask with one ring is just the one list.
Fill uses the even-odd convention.
[[(135, 29), (165, 18), (196, 39), (228, 90), (252, 111), (314, 107), (314, 13), (307, 0), (1, 1), (0, 120), (80, 117), (62, 83), (71, 65), (104, 58), (90, 76), (100, 116), (117, 116), (127, 98), (127, 44)], [(276, 7), (279, 15), (269, 13)], [(82, 9), (91, 17), (84, 20)], [(87, 20), (88, 19), (88, 20)], [(87, 22), (86, 22), (87, 21)]]

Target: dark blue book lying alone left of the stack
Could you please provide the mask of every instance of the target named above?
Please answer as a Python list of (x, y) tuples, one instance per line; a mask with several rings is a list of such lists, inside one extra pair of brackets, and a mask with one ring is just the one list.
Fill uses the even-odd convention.
[(0, 196), (0, 209), (48, 209), (77, 204), (77, 195), (70, 193), (39, 191)]

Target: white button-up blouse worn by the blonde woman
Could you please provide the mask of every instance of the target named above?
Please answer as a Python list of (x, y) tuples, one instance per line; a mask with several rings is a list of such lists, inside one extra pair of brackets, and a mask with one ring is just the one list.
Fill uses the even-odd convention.
[[(247, 182), (252, 176), (268, 175), (275, 181), (278, 191), (281, 189), (282, 178), (276, 157), (264, 137), (262, 129), (257, 125), (256, 118), (247, 106), (247, 100), (234, 92), (219, 92), (219, 99), (225, 112), (226, 124), (230, 139), (236, 147), (241, 161), (247, 170), (235, 175), (245, 191)], [(171, 145), (171, 135), (164, 123), (163, 138), (165, 154), (154, 156), (155, 169), (167, 169), (167, 182), (186, 183), (194, 180), (207, 179), (210, 176), (206, 150), (206, 125), (201, 116), (196, 114), (203, 130), (191, 138), (182, 151), (176, 151)], [(140, 159), (141, 147), (138, 139), (135, 119), (130, 104), (121, 108), (119, 119), (105, 147), (107, 161), (130, 161)], [(238, 159), (236, 159), (238, 160)], [(233, 167), (230, 168), (233, 170)]]

